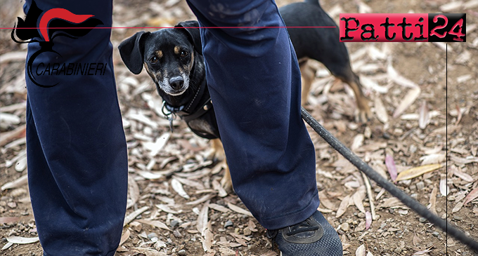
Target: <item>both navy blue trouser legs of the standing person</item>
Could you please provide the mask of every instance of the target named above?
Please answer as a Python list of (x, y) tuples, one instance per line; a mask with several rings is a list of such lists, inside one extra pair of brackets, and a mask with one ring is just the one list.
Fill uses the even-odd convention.
[[(95, 15), (111, 27), (111, 1), (37, 1)], [(56, 2), (56, 1), (55, 1)], [(91, 2), (91, 4), (89, 4)], [(267, 229), (302, 222), (318, 207), (315, 151), (300, 116), (300, 73), (272, 0), (188, 1), (201, 29), (207, 79), (233, 186)], [(29, 6), (30, 1), (27, 1)], [(94, 6), (92, 8), (91, 6)], [(110, 29), (58, 36), (35, 60), (108, 63), (105, 74), (27, 76), (30, 196), (45, 255), (113, 255), (127, 198), (127, 147), (113, 76)], [(29, 58), (40, 46), (30, 43)], [(60, 80), (58, 80), (60, 79)]]

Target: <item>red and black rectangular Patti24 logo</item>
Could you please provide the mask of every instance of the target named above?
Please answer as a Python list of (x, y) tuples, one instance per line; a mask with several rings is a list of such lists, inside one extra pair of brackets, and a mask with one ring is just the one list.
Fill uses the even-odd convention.
[(340, 41), (466, 42), (466, 14), (342, 13)]

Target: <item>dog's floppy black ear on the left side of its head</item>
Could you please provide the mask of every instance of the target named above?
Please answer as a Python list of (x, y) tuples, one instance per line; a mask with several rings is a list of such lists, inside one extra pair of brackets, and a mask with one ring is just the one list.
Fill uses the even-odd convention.
[(150, 32), (137, 32), (118, 46), (124, 65), (133, 74), (139, 74), (143, 70), (144, 41), (149, 34)]

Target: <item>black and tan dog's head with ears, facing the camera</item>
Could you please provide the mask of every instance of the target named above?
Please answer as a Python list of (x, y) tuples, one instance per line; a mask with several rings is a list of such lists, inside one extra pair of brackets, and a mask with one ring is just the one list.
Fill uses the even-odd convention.
[(189, 88), (195, 58), (202, 55), (199, 24), (181, 22), (172, 29), (137, 32), (118, 48), (124, 64), (134, 74), (143, 66), (160, 94), (179, 96)]

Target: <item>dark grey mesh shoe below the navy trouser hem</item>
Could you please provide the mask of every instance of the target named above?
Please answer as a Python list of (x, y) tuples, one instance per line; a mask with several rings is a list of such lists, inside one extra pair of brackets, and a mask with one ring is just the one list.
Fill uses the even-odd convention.
[(319, 211), (299, 224), (268, 229), (267, 237), (277, 243), (283, 256), (343, 255), (339, 234)]

